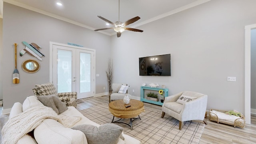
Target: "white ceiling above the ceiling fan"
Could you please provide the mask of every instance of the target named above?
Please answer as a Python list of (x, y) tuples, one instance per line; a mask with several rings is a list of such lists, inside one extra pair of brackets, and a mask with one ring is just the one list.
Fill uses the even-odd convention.
[[(1, 3), (2, 0), (0, 0)], [(106, 25), (100, 15), (111, 22), (118, 21), (118, 0), (3, 0), (10, 4), (52, 16), (91, 30), (112, 27)], [(136, 28), (159, 18), (186, 10), (210, 0), (120, 0), (120, 21), (136, 16), (140, 20), (126, 27)], [(58, 6), (56, 2), (63, 5)], [(0, 4), (0, 16), (2, 13)], [(101, 30), (104, 34), (116, 34), (114, 30)]]

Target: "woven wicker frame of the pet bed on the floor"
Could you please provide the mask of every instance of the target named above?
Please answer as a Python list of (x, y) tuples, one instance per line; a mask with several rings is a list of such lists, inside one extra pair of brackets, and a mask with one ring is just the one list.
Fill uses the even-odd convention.
[(240, 118), (236, 119), (234, 122), (230, 122), (227, 120), (219, 120), (218, 116), (216, 114), (212, 113), (212, 110), (215, 110), (218, 112), (223, 112), (223, 113), (228, 112), (228, 111), (224, 111), (224, 110), (211, 109), (210, 114), (209, 114), (209, 120), (212, 120), (212, 121), (215, 121), (218, 123), (220, 122), (220, 123), (224, 123), (224, 124), (229, 124), (229, 125), (234, 126), (234, 128), (236, 128), (236, 126), (241, 127), (241, 128), (245, 127), (245, 118), (244, 118), (243, 114), (241, 114)]

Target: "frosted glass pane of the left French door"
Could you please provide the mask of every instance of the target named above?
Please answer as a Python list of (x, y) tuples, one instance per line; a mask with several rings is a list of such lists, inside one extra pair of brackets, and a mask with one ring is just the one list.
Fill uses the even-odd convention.
[(58, 92), (71, 92), (72, 52), (67, 50), (58, 50), (57, 58), (57, 90)]

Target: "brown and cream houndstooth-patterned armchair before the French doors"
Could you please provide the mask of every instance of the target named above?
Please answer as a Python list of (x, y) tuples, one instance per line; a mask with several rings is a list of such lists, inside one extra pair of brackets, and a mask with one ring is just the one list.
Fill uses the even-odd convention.
[(76, 108), (77, 105), (77, 93), (76, 92), (62, 92), (58, 93), (54, 84), (46, 83), (46, 84), (36, 84), (36, 88), (33, 88), (33, 92), (35, 96), (47, 96), (47, 95), (55, 95), (66, 104), (66, 106), (74, 106)]

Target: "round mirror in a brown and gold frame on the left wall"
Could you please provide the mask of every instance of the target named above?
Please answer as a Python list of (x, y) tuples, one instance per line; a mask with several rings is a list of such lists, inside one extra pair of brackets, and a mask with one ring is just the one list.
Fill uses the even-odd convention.
[(39, 70), (40, 64), (35, 60), (25, 60), (21, 67), (25, 72), (34, 73)]

